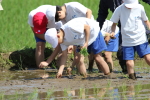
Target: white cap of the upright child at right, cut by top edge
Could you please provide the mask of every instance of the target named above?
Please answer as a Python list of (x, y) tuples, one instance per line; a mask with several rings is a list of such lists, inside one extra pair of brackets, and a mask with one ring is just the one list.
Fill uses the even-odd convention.
[(135, 8), (139, 3), (138, 0), (123, 0), (123, 2), (127, 8)]

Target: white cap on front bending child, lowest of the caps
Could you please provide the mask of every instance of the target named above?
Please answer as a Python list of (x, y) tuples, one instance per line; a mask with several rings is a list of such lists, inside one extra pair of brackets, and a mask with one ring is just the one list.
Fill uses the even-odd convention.
[(45, 40), (56, 48), (58, 45), (57, 30), (55, 28), (48, 29), (45, 33)]

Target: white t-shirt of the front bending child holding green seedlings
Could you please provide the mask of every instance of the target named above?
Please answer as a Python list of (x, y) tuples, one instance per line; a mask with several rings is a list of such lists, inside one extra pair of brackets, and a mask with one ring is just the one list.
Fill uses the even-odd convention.
[(78, 17), (70, 20), (61, 27), (65, 36), (64, 41), (61, 44), (62, 51), (66, 50), (69, 45), (80, 45), (83, 46), (85, 43), (84, 25), (90, 26), (90, 37), (88, 45), (93, 43), (100, 31), (99, 23), (95, 20), (88, 19), (85, 17)]

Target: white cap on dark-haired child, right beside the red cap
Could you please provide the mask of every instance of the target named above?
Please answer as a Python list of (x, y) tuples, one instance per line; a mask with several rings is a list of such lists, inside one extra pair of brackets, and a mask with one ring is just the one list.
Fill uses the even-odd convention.
[(56, 6), (51, 6), (46, 10), (46, 17), (48, 22), (55, 25), (55, 14), (56, 14)]

